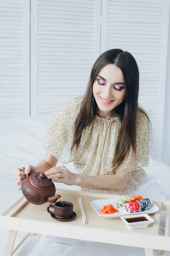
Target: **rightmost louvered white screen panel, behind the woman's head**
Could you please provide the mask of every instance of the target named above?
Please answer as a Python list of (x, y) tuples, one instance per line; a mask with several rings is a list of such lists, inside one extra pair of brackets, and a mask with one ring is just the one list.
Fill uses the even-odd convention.
[[(140, 72), (139, 104), (153, 128), (150, 154), (161, 158), (167, 60), (169, 1), (102, 1), (101, 52), (130, 52)], [(152, 145), (152, 148), (151, 148)]]

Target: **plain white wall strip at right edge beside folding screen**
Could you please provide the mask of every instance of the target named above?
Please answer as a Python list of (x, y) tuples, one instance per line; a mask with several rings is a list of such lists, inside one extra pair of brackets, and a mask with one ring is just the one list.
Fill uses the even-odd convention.
[(167, 81), (165, 90), (162, 162), (170, 166), (170, 19), (167, 49)]

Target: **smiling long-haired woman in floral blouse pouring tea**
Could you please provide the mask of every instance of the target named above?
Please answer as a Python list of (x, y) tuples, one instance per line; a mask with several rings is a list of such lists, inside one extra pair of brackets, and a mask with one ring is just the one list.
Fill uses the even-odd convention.
[[(142, 166), (149, 163), (150, 120), (138, 105), (139, 70), (121, 49), (102, 53), (94, 63), (85, 96), (65, 103), (54, 115), (42, 144), (44, 159), (14, 170), (18, 189), (29, 172), (45, 172), (54, 182), (78, 185), (83, 191), (150, 197)], [(74, 162), (77, 173), (60, 160)], [(161, 186), (157, 194), (164, 199)], [(158, 193), (159, 192), (159, 193)], [(153, 198), (153, 197), (151, 197)]]

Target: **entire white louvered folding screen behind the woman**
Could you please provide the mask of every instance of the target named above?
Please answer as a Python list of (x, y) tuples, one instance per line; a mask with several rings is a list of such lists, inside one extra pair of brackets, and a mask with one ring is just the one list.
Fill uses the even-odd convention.
[(151, 154), (159, 160), (169, 2), (0, 0), (0, 117), (55, 113), (84, 93), (102, 52), (123, 49), (139, 66), (139, 104), (149, 114)]

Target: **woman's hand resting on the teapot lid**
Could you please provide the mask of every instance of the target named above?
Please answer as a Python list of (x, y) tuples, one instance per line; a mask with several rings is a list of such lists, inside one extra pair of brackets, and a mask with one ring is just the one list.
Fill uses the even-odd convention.
[(54, 182), (64, 183), (70, 186), (74, 185), (76, 180), (76, 174), (70, 172), (63, 164), (47, 170), (45, 176)]

